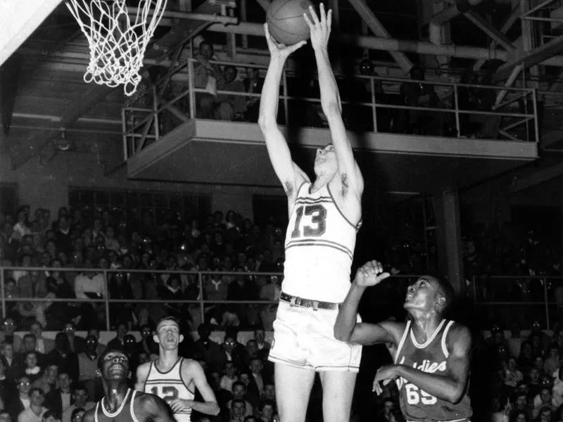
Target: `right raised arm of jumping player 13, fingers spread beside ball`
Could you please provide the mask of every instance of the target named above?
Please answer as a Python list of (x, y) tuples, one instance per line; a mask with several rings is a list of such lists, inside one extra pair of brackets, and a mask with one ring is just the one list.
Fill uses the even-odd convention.
[(346, 127), (342, 120), (342, 106), (340, 102), (339, 88), (332, 72), (328, 43), (332, 23), (332, 11), (325, 13), (324, 4), (320, 5), (320, 18), (317, 17), (315, 9), (310, 7), (311, 18), (305, 13), (303, 17), (309, 25), (311, 32), (311, 44), (315, 50), (317, 59), (317, 70), (319, 72), (319, 87), (321, 91), (321, 106), (324, 115), (329, 122), (332, 143), (336, 152), (336, 160), (339, 165), (339, 177), (343, 191), (350, 188), (351, 191), (362, 195), (364, 190), (364, 179), (360, 167), (354, 159), (352, 146), (346, 134)]

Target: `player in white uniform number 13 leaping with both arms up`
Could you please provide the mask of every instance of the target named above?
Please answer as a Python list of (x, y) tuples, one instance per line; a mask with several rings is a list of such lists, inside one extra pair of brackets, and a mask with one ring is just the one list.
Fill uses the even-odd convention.
[(329, 63), (331, 11), (310, 8), (321, 106), (331, 143), (317, 149), (315, 181), (291, 159), (277, 122), (279, 83), (288, 56), (305, 44), (276, 44), (267, 25), (270, 66), (262, 89), (259, 124), (274, 171), (288, 199), (289, 226), (281, 298), (269, 359), (275, 364), (281, 422), (303, 422), (315, 371), (320, 373), (325, 422), (350, 419), (361, 347), (334, 338), (339, 303), (350, 286), (350, 266), (360, 226), (364, 181), (341, 117), (341, 102)]

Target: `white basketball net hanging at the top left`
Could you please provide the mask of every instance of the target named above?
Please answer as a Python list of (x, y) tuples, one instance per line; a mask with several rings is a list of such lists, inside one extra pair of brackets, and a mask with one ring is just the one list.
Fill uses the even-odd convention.
[[(84, 82), (115, 88), (131, 96), (141, 82), (146, 46), (163, 17), (167, 0), (141, 0), (134, 20), (125, 0), (68, 0), (66, 6), (86, 35), (90, 62)], [(151, 10), (151, 6), (154, 8)]]

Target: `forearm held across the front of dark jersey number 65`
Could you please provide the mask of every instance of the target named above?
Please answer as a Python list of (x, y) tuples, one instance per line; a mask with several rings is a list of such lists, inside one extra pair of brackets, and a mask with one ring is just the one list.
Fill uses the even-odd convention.
[(459, 402), (466, 387), (450, 376), (422, 372), (406, 365), (396, 365), (396, 373), (420, 390), (450, 403)]

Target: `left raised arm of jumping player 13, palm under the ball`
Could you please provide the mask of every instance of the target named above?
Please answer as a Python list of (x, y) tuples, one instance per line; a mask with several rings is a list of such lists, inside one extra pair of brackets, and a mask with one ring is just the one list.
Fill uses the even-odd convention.
[(292, 196), (296, 192), (296, 184), (306, 180), (305, 173), (291, 160), (291, 153), (287, 146), (284, 135), (277, 126), (277, 106), (279, 102), (279, 82), (287, 58), (293, 51), (296, 51), (305, 44), (301, 41), (293, 46), (283, 46), (276, 44), (267, 24), (264, 25), (264, 32), (270, 49), (270, 65), (262, 87), (260, 98), (260, 115), (258, 125), (266, 141), (268, 155), (274, 167), (281, 185), (284, 186), (287, 196)]

